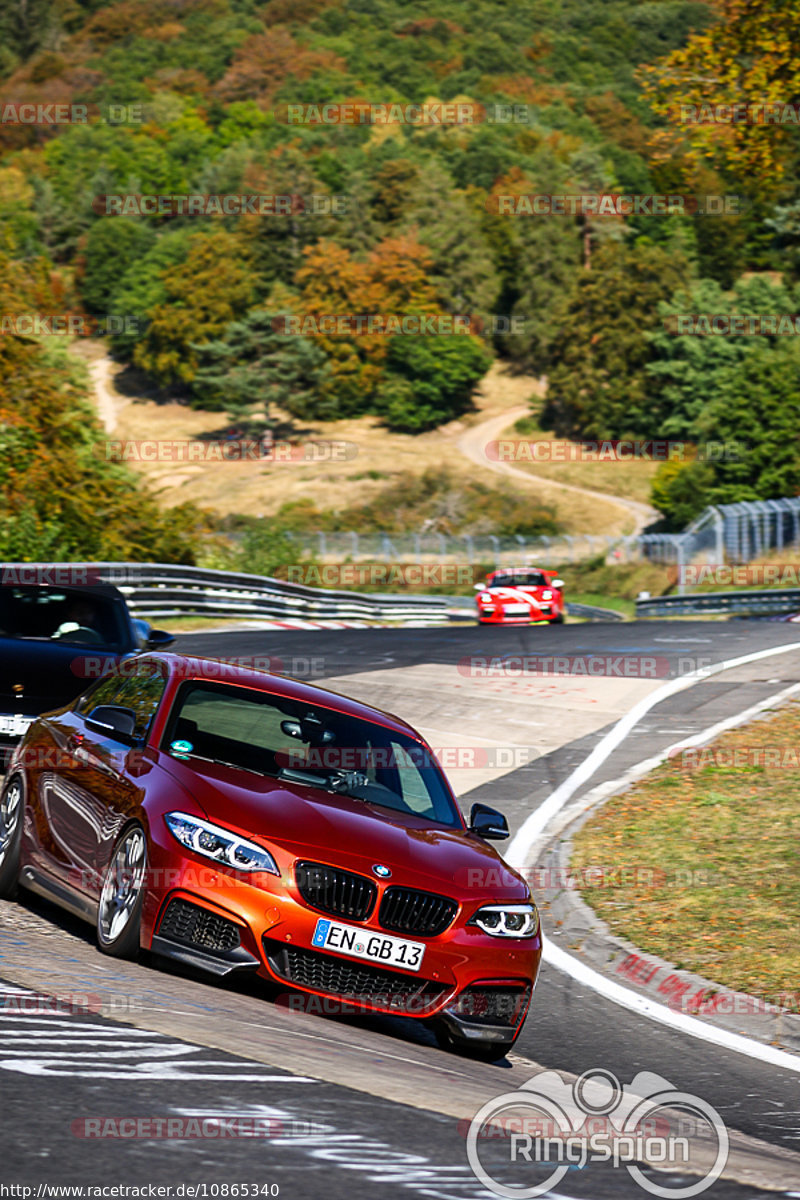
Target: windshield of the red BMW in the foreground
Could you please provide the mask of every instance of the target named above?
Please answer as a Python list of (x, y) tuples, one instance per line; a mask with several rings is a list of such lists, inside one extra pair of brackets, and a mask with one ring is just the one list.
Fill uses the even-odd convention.
[(461, 827), (431, 751), (404, 733), (319, 704), (237, 684), (188, 682), (161, 749)]

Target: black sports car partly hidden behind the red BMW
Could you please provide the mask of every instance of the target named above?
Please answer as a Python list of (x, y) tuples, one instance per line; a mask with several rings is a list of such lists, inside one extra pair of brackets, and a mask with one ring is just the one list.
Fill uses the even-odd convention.
[(0, 770), (35, 716), (70, 703), (121, 660), (173, 641), (132, 617), (108, 583), (0, 584)]

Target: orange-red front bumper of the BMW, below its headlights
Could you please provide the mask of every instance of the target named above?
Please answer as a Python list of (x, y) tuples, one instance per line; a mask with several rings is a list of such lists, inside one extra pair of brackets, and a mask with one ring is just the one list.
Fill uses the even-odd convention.
[[(150, 870), (158, 882), (158, 875), (164, 878), (163, 868), (157, 847), (152, 850)], [(512, 1039), (524, 1020), (539, 973), (541, 932), (518, 941), (495, 938), (467, 926), (458, 913), (437, 937), (401, 935), (425, 942), (419, 971), (387, 970), (373, 960), (314, 948), (317, 922), (331, 914), (306, 906), (277, 876), (259, 874), (257, 878), (258, 883), (245, 881), (212, 863), (199, 868), (197, 862), (170, 854), (168, 886), (148, 892), (143, 947), (217, 976), (253, 970), (293, 991), (332, 1000), (342, 1012), (417, 1019), (441, 1015), (464, 1039)], [(365, 934), (387, 932), (374, 916), (357, 923), (345, 917), (332, 919), (357, 924)], [(474, 1004), (465, 1007), (464, 994), (488, 980), (503, 980), (501, 986), (512, 989), (517, 998), (524, 992), (522, 1008), (512, 1004), (494, 1022), (491, 1013), (479, 1013)], [(509, 1025), (511, 1019), (515, 1024)], [(470, 1032), (473, 1026), (475, 1033)], [(500, 1032), (492, 1032), (495, 1026)]]

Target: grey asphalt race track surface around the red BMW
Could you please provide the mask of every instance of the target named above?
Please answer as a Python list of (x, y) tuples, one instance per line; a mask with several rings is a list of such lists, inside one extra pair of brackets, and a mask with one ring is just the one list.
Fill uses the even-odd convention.
[[(349, 694), (348, 677), (360, 684), (377, 672), (452, 668), (471, 655), (656, 656), (660, 673), (674, 674), (688, 670), (690, 659), (716, 662), (795, 640), (793, 626), (777, 623), (648, 622), (240, 631), (185, 636), (176, 648), (231, 659), (272, 655), (288, 673), (324, 678)], [(774, 695), (796, 682), (799, 666), (800, 654), (777, 655), (744, 676), (723, 673), (657, 706), (587, 787)], [(397, 679), (393, 707), (404, 715), (403, 674)], [(357, 696), (355, 679), (350, 688)], [(546, 710), (539, 715), (547, 719)], [(571, 739), (564, 709), (558, 719), (564, 726), (558, 745), (501, 779), (462, 792), (462, 804), (479, 798), (494, 803), (507, 814), (512, 832), (518, 828), (610, 724)], [(0, 1014), (4, 1182), (240, 1181), (277, 1184), (289, 1198), (372, 1196), (378, 1190), (477, 1198), (489, 1193), (467, 1165), (463, 1122), (492, 1096), (552, 1067), (575, 1076), (602, 1068), (622, 1082), (638, 1072), (655, 1072), (714, 1105), (745, 1135), (745, 1148), (747, 1136), (758, 1139), (758, 1169), (750, 1176), (723, 1176), (705, 1195), (800, 1194), (796, 1160), (786, 1153), (800, 1148), (799, 1074), (664, 1030), (549, 965), (516, 1052), (503, 1064), (487, 1066), (443, 1052), (410, 1021), (295, 1012), (287, 997), (276, 1000), (257, 983), (217, 985), (154, 960), (109, 966), (94, 949), (88, 926), (32, 896), (4, 904), (0, 920), (0, 977), (11, 986), (90, 997), (88, 1014), (66, 1010), (70, 1003), (55, 1013), (35, 1006), (26, 1010), (14, 994), (6, 997)], [(137, 1127), (138, 1138), (113, 1136), (113, 1126), (106, 1136), (86, 1138), (74, 1124), (83, 1118), (192, 1115), (258, 1118), (266, 1132), (216, 1140), (148, 1136), (154, 1127), (145, 1123)], [(570, 1172), (555, 1192), (602, 1200), (643, 1194), (624, 1170), (608, 1164)]]

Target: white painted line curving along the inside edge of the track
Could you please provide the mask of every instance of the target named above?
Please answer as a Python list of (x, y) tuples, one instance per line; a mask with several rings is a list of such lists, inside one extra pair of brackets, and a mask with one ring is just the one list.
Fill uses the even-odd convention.
[[(747, 662), (756, 662), (759, 659), (770, 658), (776, 654), (788, 654), (792, 650), (800, 650), (800, 642), (790, 642), (788, 646), (777, 646), (768, 650), (757, 650), (753, 654), (745, 654), (738, 659), (728, 659), (724, 662), (715, 664), (712, 667), (705, 667), (702, 671), (692, 671), (690, 674), (682, 676), (680, 679), (673, 679), (668, 684), (664, 684), (663, 688), (660, 688), (650, 696), (639, 701), (639, 703), (636, 704), (630, 713), (616, 722), (613, 730), (609, 730), (591, 754), (564, 780), (563, 784), (559, 785), (559, 787), (555, 788), (547, 800), (545, 800), (545, 803), (535, 812), (531, 812), (509, 847), (509, 853), (506, 856), (507, 862), (518, 870), (524, 869), (531, 847), (546, 834), (551, 821), (553, 821), (554, 817), (558, 816), (558, 814), (565, 808), (578, 787), (594, 775), (597, 768), (627, 737), (640, 718), (656, 704), (661, 703), (662, 700), (667, 700), (668, 696), (674, 695), (676, 691), (691, 688), (693, 684), (700, 683), (703, 679), (708, 679), (712, 674), (718, 674), (722, 671), (730, 671), (734, 667), (744, 666)], [(784, 688), (782, 691), (760, 701), (758, 704), (751, 706), (736, 716), (717, 721), (715, 725), (710, 725), (706, 730), (694, 734), (692, 738), (687, 738), (685, 742), (678, 742), (674, 745), (668, 746), (663, 754), (655, 755), (654, 757), (631, 767), (621, 779), (614, 780), (612, 784), (603, 784), (601, 787), (593, 791), (602, 791), (610, 794), (612, 790), (616, 790), (618, 786), (624, 787), (625, 784), (630, 782), (633, 778), (640, 776), (658, 766), (658, 763), (663, 762), (670, 751), (674, 752), (684, 746), (700, 745), (703, 742), (708, 742), (710, 738), (716, 737), (724, 730), (733, 728), (735, 725), (742, 724), (751, 716), (754, 716), (765, 708), (769, 708), (771, 704), (784, 700), (788, 695), (795, 691), (800, 691), (800, 684), (793, 684), (789, 688)], [(607, 979), (606, 976), (602, 976), (599, 971), (594, 971), (591, 967), (588, 967), (584, 962), (581, 962), (573, 955), (567, 954), (566, 950), (560, 949), (560, 947), (554, 946), (551, 941), (545, 942), (543, 956), (552, 964), (552, 966), (557, 967), (557, 970), (572, 976), (572, 978), (578, 983), (585, 984), (588, 988), (591, 988), (593, 991), (596, 991), (599, 995), (612, 1001), (614, 1004), (627, 1008), (631, 1012), (646, 1016), (661, 1025), (667, 1025), (670, 1028), (680, 1031), (681, 1033), (687, 1033), (690, 1037), (702, 1038), (704, 1042), (723, 1046), (727, 1050), (734, 1050), (735, 1052), (747, 1055), (751, 1058), (758, 1058), (760, 1062), (770, 1063), (774, 1067), (783, 1067), (788, 1070), (800, 1072), (800, 1055), (789, 1054), (787, 1050), (778, 1050), (764, 1042), (754, 1042), (752, 1038), (746, 1038), (739, 1033), (730, 1033), (727, 1030), (716, 1028), (715, 1026), (706, 1025), (704, 1021), (699, 1021), (697, 1018), (688, 1016), (685, 1013), (676, 1013), (674, 1009), (667, 1008), (666, 1004), (660, 1004), (656, 1001), (649, 1000), (646, 996), (642, 996), (639, 992), (631, 991), (630, 988), (624, 988), (613, 979)]]

